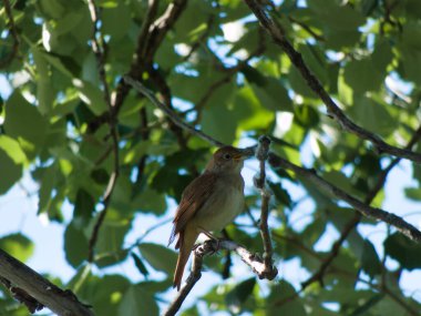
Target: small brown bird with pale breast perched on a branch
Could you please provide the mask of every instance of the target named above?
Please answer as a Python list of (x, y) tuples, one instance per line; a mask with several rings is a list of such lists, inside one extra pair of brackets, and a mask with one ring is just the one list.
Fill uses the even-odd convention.
[(212, 236), (244, 210), (244, 160), (253, 152), (224, 146), (217, 150), (205, 171), (184, 190), (173, 221), (170, 242), (177, 237), (179, 249), (174, 273), (174, 286), (179, 290), (184, 267), (201, 233)]

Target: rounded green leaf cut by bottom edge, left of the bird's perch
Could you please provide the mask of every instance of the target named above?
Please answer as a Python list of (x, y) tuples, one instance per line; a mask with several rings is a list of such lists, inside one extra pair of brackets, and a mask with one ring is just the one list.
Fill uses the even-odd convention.
[(150, 292), (138, 285), (132, 285), (124, 293), (119, 307), (119, 315), (157, 316), (160, 309)]

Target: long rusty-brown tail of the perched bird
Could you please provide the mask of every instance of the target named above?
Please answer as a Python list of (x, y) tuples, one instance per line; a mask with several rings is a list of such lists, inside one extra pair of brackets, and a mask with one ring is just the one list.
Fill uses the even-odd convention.
[(187, 264), (188, 257), (191, 256), (193, 245), (198, 237), (196, 230), (184, 230), (179, 232), (177, 245), (179, 246), (179, 254), (177, 259), (177, 265), (174, 273), (174, 285), (177, 290), (179, 290), (182, 278), (184, 274), (184, 267)]

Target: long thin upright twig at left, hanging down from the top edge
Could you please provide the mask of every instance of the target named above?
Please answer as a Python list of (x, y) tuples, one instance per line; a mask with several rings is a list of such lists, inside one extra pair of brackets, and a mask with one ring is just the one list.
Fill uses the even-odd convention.
[(102, 223), (104, 222), (104, 218), (106, 216), (106, 212), (109, 210), (111, 195), (114, 191), (116, 180), (120, 174), (120, 162), (119, 162), (119, 135), (116, 130), (116, 114), (114, 112), (114, 108), (111, 102), (110, 98), (110, 90), (109, 84), (106, 82), (106, 73), (105, 73), (105, 53), (104, 53), (104, 40), (102, 39), (102, 35), (99, 30), (100, 19), (97, 14), (97, 8), (95, 6), (95, 0), (89, 0), (89, 10), (91, 14), (91, 20), (93, 23), (93, 33), (92, 33), (92, 50), (96, 58), (97, 63), (97, 70), (100, 73), (100, 80), (103, 86), (103, 93), (104, 93), (104, 100), (105, 103), (109, 106), (109, 125), (110, 125), (110, 134), (112, 139), (112, 150), (114, 154), (114, 169), (110, 176), (109, 183), (105, 188), (105, 193), (103, 196), (103, 204), (104, 208), (101, 211), (95, 225), (93, 227), (91, 238), (89, 241), (89, 254), (88, 254), (88, 261), (93, 262), (94, 259), (94, 248), (97, 241), (97, 236), (102, 226)]

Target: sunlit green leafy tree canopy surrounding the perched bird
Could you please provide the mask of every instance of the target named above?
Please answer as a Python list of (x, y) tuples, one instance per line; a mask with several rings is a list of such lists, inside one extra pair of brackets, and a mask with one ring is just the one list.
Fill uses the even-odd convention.
[[(176, 253), (170, 231), (144, 236), (168, 225), (217, 145), (266, 135), (270, 152), (246, 165), (263, 182), (246, 183), (224, 237), (278, 275), (258, 279), (235, 251), (206, 255), (215, 285), (181, 315), (420, 314), (401, 282), (421, 268), (420, 217), (384, 203), (402, 164), (412, 186), (400, 194), (421, 198), (419, 0), (3, 0), (0, 29), (0, 194), (31, 177), (34, 212), (65, 226), (74, 276), (44, 277), (70, 305), (163, 314)], [(16, 232), (0, 248), (25, 262), (33, 242)], [(54, 309), (6, 262), (0, 314), (70, 306)], [(141, 282), (106, 273), (127, 262)]]

